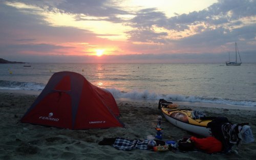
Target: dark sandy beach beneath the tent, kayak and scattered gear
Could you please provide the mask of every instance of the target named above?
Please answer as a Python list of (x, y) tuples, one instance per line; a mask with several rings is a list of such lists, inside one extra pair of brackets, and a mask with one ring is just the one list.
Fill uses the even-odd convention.
[[(256, 143), (233, 146), (229, 154), (207, 154), (200, 151), (154, 152), (152, 150), (120, 151), (112, 146), (100, 146), (103, 138), (121, 137), (141, 139), (156, 134), (157, 117), (161, 115), (157, 103), (117, 101), (125, 128), (69, 130), (19, 123), (20, 118), (37, 95), (0, 93), (0, 159), (255, 159)], [(194, 105), (194, 106), (193, 106)], [(217, 105), (216, 105), (217, 106)], [(256, 111), (219, 106), (180, 104), (181, 108), (200, 110), (207, 116), (227, 117), (232, 123), (248, 122), (256, 137)], [(161, 127), (163, 140), (177, 141), (191, 136), (164, 118)]]

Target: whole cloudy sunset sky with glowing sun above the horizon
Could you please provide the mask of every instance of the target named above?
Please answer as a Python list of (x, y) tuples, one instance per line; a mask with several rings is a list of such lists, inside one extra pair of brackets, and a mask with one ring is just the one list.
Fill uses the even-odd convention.
[(0, 58), (25, 62), (256, 62), (255, 0), (2, 1)]

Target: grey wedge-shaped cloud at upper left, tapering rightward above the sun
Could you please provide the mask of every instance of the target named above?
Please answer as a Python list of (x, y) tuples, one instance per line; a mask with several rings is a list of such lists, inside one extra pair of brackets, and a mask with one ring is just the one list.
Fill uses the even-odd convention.
[(23, 13), (16, 8), (0, 5), (0, 42), (16, 43), (17, 39), (36, 39), (38, 41), (67, 42), (93, 38), (87, 30), (72, 27), (52, 27), (44, 16)]

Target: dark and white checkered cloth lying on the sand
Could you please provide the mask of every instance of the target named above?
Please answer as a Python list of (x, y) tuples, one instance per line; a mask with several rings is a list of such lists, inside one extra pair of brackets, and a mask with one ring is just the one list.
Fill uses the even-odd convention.
[(117, 138), (115, 143), (112, 145), (116, 149), (123, 150), (123, 151), (129, 151), (132, 149), (147, 149), (147, 143), (150, 140), (127, 140), (124, 138)]

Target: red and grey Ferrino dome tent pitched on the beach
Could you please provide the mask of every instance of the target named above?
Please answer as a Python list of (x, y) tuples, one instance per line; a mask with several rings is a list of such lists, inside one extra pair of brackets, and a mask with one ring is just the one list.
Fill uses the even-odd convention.
[(20, 120), (69, 129), (123, 127), (112, 94), (74, 72), (53, 74)]

